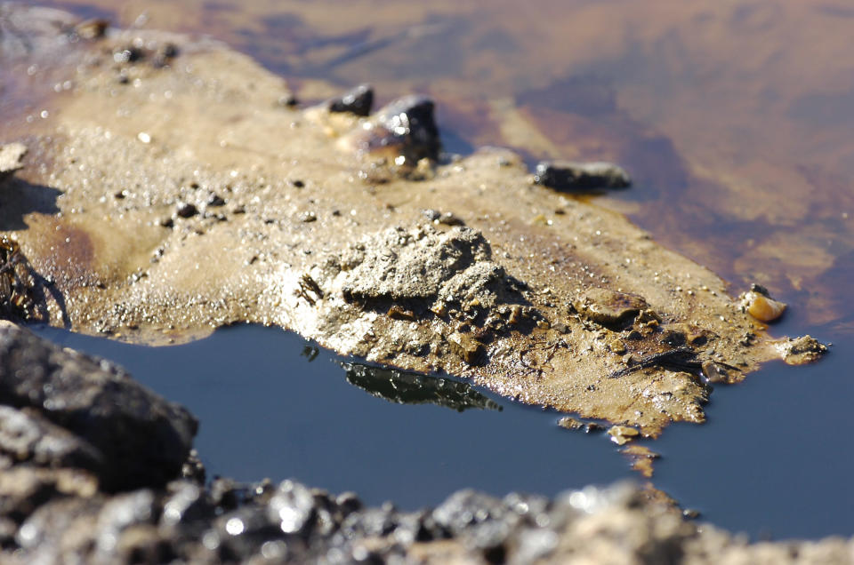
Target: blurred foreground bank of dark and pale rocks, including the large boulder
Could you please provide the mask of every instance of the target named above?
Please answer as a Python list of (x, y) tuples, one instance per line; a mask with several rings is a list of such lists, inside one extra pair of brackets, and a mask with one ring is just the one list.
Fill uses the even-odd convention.
[[(115, 365), (0, 325), (4, 563), (850, 562), (854, 542), (746, 545), (623, 485), (365, 507), (296, 481), (204, 484), (196, 421)], [(170, 448), (169, 446), (173, 446)]]

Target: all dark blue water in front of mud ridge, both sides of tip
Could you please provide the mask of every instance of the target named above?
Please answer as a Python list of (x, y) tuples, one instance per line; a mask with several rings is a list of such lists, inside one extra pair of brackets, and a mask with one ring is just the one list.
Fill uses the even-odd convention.
[[(390, 402), (375, 396), (390, 396), (388, 378), (374, 378), (370, 394), (357, 386), (365, 378), (342, 368), (351, 360), (277, 328), (231, 327), (159, 348), (36, 331), (124, 365), (192, 410), (209, 476), (294, 477), (407, 509), (466, 487), (552, 496), (641, 480), (607, 436), (564, 430), (553, 412), (449, 378), (444, 386), (423, 378), (413, 394), (407, 375), (396, 383), (399, 397), (408, 389), (422, 403)], [(672, 426), (648, 443), (663, 456), (655, 486), (702, 520), (755, 538), (846, 535), (854, 529), (854, 455), (838, 422), (854, 398), (852, 362), (838, 350), (811, 367), (771, 364), (741, 385), (717, 387), (705, 426)], [(429, 394), (437, 388), (452, 390)]]

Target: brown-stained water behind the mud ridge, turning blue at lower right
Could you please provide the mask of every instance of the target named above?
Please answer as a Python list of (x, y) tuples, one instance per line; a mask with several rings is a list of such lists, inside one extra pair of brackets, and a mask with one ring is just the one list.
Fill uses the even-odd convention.
[(427, 92), (452, 150), (623, 164), (634, 186), (595, 202), (711, 267), (733, 294), (769, 287), (790, 305), (774, 333), (835, 343), (808, 370), (769, 366), (717, 390), (709, 425), (677, 426), (654, 446), (665, 454), (657, 486), (734, 529), (854, 533), (847, 2), (50, 4), (222, 39), (301, 99), (331, 94), (329, 83), (370, 82), (381, 102)]

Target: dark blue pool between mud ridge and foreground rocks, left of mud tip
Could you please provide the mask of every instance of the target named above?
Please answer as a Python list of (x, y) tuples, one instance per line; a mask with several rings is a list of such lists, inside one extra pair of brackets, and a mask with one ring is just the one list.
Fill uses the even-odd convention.
[(38, 333), (115, 360), (188, 407), (201, 422), (195, 445), (211, 476), (293, 477), (409, 509), (466, 487), (553, 495), (632, 476), (606, 436), (564, 430), (554, 412), (487, 393), (487, 408), (462, 412), (389, 402), (350, 385), (342, 358), (278, 328), (231, 327), (157, 348)]

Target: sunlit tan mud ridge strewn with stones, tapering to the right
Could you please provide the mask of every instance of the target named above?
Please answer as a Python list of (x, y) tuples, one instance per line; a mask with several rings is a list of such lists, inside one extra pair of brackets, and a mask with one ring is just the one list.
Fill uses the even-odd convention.
[(49, 111), (0, 138), (28, 148), (0, 222), (34, 273), (31, 318), (160, 344), (278, 324), (644, 436), (702, 422), (714, 383), (822, 352), (792, 354), (709, 270), (518, 155), (440, 154), (429, 99), (296, 107), (222, 45), (29, 17), (4, 80), (65, 46)]

